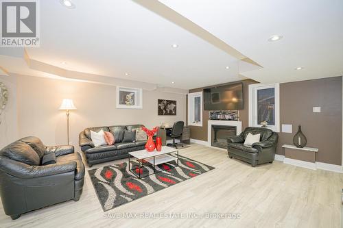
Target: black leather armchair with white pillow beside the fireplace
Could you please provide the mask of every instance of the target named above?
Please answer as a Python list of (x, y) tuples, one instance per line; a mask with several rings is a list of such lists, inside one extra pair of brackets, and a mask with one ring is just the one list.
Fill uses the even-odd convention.
[[(244, 145), (246, 136), (251, 134), (261, 134), (260, 142), (255, 142), (252, 146)], [(272, 163), (275, 157), (278, 135), (270, 129), (263, 127), (247, 127), (239, 136), (228, 138), (228, 157), (237, 158), (249, 162), (252, 167), (257, 164)]]

